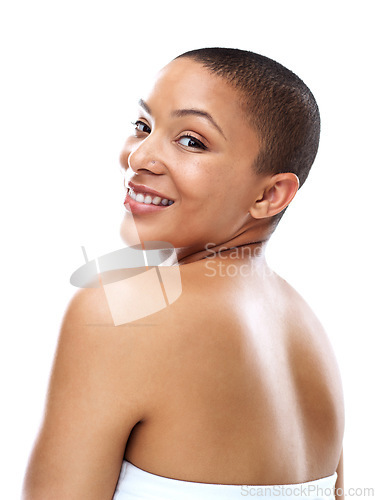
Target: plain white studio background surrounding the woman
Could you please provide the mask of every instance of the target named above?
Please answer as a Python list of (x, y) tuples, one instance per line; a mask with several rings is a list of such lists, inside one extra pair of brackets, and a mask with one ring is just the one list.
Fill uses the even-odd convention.
[(1, 472), (19, 497), (71, 273), (120, 248), (118, 154), (132, 103), (179, 53), (237, 47), (313, 91), (322, 139), (269, 245), (326, 327), (346, 401), (346, 487), (375, 487), (370, 1), (8, 1), (1, 4)]

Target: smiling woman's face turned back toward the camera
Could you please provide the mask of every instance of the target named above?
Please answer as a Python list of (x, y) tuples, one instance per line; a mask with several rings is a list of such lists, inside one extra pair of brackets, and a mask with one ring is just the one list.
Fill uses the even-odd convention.
[(173, 204), (155, 206), (154, 198), (144, 204), (127, 194), (125, 242), (132, 244), (132, 219), (141, 241), (192, 251), (225, 243), (248, 227), (262, 179), (252, 171), (259, 142), (238, 100), (225, 80), (191, 59), (161, 70), (140, 101), (120, 160), (126, 186), (147, 186)]

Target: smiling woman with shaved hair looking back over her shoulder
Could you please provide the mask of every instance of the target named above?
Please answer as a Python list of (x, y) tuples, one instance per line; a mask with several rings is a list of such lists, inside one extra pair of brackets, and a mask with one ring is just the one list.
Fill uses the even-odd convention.
[(182, 294), (118, 326), (105, 287), (72, 299), (25, 500), (331, 498), (336, 361), (264, 255), (316, 155), (311, 92), (263, 56), (201, 49), (163, 68), (134, 126), (122, 235), (172, 244)]

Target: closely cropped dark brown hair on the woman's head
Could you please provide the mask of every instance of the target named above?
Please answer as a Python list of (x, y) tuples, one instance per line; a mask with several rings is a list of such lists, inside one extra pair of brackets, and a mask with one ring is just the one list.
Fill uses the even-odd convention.
[(318, 105), (303, 81), (278, 62), (246, 50), (211, 47), (185, 52), (240, 92), (260, 140), (259, 174), (293, 172), (305, 182), (320, 136)]

